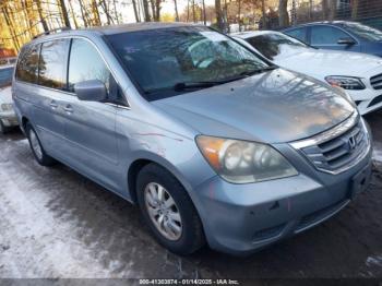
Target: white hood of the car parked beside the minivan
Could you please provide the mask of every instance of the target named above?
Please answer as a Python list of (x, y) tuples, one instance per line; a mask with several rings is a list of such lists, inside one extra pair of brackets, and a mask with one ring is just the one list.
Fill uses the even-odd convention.
[[(381, 69), (382, 59), (371, 55), (351, 51), (336, 51), (313, 48), (293, 50), (283, 45), (280, 53), (273, 61), (286, 69), (306, 74), (363, 76), (365, 73)], [(285, 47), (286, 46), (286, 47)]]

